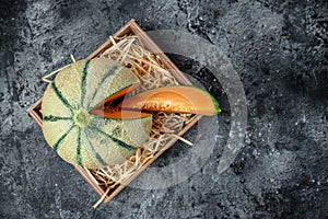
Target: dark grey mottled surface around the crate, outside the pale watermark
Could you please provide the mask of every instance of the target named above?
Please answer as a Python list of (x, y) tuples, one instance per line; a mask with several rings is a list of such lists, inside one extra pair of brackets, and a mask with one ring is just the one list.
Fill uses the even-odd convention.
[[(327, 9), (324, 0), (1, 0), (0, 218), (327, 217)], [(86, 57), (131, 18), (145, 31), (195, 33), (230, 57), (248, 101), (245, 147), (219, 175), (227, 102), (204, 67), (172, 56), (220, 97), (223, 138), (187, 181), (127, 187), (93, 210), (98, 196), (46, 146), (25, 110), (43, 94), (42, 76), (70, 62), (70, 54)], [(184, 150), (178, 143), (154, 165)]]

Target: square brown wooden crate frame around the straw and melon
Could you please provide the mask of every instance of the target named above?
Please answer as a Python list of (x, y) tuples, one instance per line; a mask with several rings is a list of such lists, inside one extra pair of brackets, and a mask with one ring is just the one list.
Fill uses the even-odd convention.
[[(167, 56), (161, 51), (161, 49), (156, 46), (156, 44), (141, 30), (141, 27), (136, 23), (134, 20), (129, 21), (125, 26), (122, 26), (118, 32), (114, 34), (115, 37), (120, 37), (126, 34), (134, 34), (138, 35), (139, 39), (145, 47), (145, 49), (150, 50), (153, 54), (160, 56), (163, 64), (166, 66), (168, 71), (176, 78), (176, 80), (180, 84), (191, 84), (190, 81), (184, 76), (183, 72), (167, 58)], [(95, 51), (93, 51), (87, 59), (95, 58), (99, 56), (104, 50), (112, 46), (112, 41), (106, 41), (103, 45), (101, 45)], [(35, 119), (35, 122), (42, 126), (42, 114), (39, 112), (42, 104), (42, 99), (39, 99), (36, 103), (34, 103), (28, 110), (28, 115)], [(179, 136), (184, 135), (191, 126), (194, 126), (199, 119), (201, 118), (200, 115), (197, 115), (192, 118), (187, 126), (185, 126)], [(109, 201), (115, 195), (117, 195), (121, 189), (125, 188), (127, 184), (129, 184), (133, 178), (136, 178), (145, 168), (148, 168), (153, 161), (155, 161), (165, 150), (167, 150), (171, 146), (173, 146), (177, 141), (177, 138), (172, 138), (160, 151), (155, 153), (155, 155), (149, 160), (142, 168), (137, 170), (137, 172), (125, 182), (125, 184), (118, 185), (114, 191), (109, 192), (104, 199), (104, 203)], [(105, 194), (105, 188), (99, 186), (96, 178), (91, 174), (91, 172), (83, 166), (74, 165), (77, 171), (86, 180), (86, 182), (97, 192), (99, 196)]]

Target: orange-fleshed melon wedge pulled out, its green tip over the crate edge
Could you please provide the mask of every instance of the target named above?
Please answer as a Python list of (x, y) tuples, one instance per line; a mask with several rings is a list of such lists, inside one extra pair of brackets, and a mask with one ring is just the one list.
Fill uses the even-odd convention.
[(122, 111), (216, 115), (221, 112), (218, 101), (207, 91), (195, 87), (175, 85), (141, 92), (124, 100)]

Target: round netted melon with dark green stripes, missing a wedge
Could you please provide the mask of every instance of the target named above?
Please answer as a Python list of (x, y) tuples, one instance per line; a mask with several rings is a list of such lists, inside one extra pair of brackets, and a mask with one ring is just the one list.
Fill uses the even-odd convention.
[(106, 58), (77, 61), (61, 70), (43, 96), (45, 140), (71, 164), (95, 169), (124, 162), (148, 139), (151, 114), (121, 119), (90, 111), (139, 83), (129, 69)]

